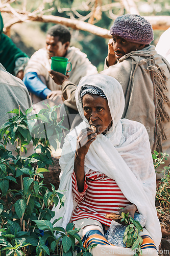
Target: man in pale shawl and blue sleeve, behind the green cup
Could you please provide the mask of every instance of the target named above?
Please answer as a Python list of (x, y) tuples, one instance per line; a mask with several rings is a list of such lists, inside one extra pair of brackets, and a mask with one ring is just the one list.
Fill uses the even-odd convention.
[(23, 82), (31, 93), (33, 103), (48, 98), (55, 101), (55, 96), (61, 94), (61, 86), (56, 84), (48, 73), (53, 56), (68, 58), (72, 65), (69, 79), (75, 84), (78, 84), (83, 76), (98, 73), (85, 53), (78, 48), (69, 47), (70, 38), (70, 32), (65, 26), (55, 25), (47, 31), (46, 47), (31, 56)]

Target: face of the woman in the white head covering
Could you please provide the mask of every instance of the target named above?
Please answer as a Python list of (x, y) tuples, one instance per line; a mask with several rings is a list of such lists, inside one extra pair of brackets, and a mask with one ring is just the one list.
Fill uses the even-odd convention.
[(82, 99), (84, 116), (90, 126), (96, 127), (97, 134), (105, 134), (112, 125), (112, 117), (107, 99), (93, 94), (86, 94)]

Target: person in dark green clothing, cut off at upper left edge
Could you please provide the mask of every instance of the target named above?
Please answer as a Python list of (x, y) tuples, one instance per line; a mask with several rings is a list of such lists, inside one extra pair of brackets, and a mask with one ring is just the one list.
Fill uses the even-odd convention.
[(0, 62), (12, 75), (23, 79), (23, 71), (29, 57), (15, 46), (13, 41), (3, 33), (4, 23), (0, 13)]

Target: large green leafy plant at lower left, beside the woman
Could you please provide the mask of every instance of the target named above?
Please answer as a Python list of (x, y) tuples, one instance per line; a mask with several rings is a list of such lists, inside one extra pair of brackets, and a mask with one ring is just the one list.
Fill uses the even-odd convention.
[[(52, 206), (62, 207), (63, 191), (51, 184), (49, 190), (43, 184), (43, 173), (53, 164), (51, 141), (56, 150), (62, 137), (62, 120), (57, 122), (56, 106), (31, 115), (33, 108), (23, 114), (19, 109), (9, 113), (14, 116), (4, 123), (0, 130), (0, 224), (1, 255), (50, 255), (59, 245), (56, 234), (62, 238), (61, 253), (72, 255), (75, 239), (81, 242), (79, 230), (68, 224), (66, 230), (53, 227), (55, 216)], [(32, 141), (35, 152), (27, 153)], [(17, 155), (7, 150), (7, 143), (16, 147)], [(17, 187), (16, 187), (17, 185)], [(19, 188), (18, 188), (19, 187)]]

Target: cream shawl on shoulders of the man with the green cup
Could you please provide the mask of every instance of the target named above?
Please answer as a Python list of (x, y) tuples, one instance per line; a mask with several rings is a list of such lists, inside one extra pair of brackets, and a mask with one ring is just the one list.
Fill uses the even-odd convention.
[[(87, 55), (76, 47), (69, 47), (65, 56), (71, 62), (72, 69), (68, 73), (72, 83), (78, 84), (83, 76), (97, 74), (96, 67), (88, 60)], [(61, 86), (54, 82), (48, 71), (51, 70), (51, 59), (49, 59), (45, 48), (36, 51), (30, 58), (25, 74), (36, 72), (45, 78), (46, 86), (51, 91), (61, 90)]]

